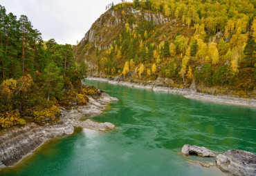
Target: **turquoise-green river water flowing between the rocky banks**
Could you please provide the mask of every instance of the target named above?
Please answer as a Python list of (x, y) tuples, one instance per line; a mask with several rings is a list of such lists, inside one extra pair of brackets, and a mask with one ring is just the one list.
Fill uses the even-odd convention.
[[(86, 81), (118, 102), (96, 121), (117, 126), (108, 133), (77, 131), (53, 139), (0, 175), (222, 175), (179, 154), (184, 144), (216, 151), (256, 153), (256, 110), (185, 99), (181, 95)], [(210, 158), (208, 160), (211, 160)]]

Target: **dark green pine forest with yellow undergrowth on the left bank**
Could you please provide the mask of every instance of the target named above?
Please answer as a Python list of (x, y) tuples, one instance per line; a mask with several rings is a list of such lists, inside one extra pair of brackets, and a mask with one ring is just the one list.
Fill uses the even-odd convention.
[(0, 131), (29, 122), (57, 121), (59, 106), (86, 104), (84, 61), (73, 46), (43, 41), (28, 17), (6, 14), (0, 6)]

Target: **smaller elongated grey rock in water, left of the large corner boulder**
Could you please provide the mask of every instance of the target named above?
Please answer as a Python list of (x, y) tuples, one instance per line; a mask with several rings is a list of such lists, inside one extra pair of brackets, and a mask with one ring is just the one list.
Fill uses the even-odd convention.
[(181, 149), (181, 153), (186, 156), (194, 153), (201, 157), (216, 157), (212, 150), (200, 146), (190, 146), (188, 144), (183, 146), (183, 148)]

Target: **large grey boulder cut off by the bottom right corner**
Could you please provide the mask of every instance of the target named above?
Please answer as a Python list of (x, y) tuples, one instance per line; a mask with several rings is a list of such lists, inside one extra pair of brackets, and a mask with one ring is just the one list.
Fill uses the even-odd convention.
[(217, 155), (217, 166), (232, 175), (256, 175), (256, 155), (244, 150), (228, 150)]

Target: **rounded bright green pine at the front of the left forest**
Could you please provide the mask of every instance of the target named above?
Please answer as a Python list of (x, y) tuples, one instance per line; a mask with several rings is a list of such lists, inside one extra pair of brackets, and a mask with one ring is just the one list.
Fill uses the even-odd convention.
[(44, 69), (44, 90), (46, 91), (47, 99), (49, 101), (50, 96), (59, 96), (62, 94), (63, 77), (55, 63), (48, 63), (48, 66)]

